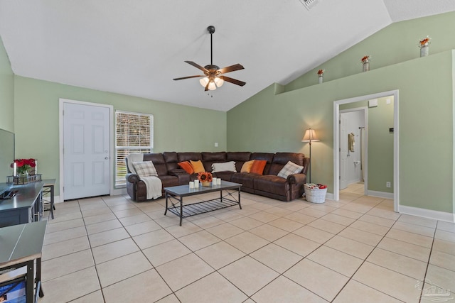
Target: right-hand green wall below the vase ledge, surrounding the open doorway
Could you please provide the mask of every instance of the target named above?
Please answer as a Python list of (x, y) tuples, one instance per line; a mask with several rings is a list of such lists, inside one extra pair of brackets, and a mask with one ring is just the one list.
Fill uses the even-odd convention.
[(453, 57), (448, 50), (282, 94), (271, 85), (228, 111), (228, 147), (308, 155), (301, 136), (314, 128), (311, 179), (333, 193), (333, 101), (399, 89), (400, 204), (452, 212)]

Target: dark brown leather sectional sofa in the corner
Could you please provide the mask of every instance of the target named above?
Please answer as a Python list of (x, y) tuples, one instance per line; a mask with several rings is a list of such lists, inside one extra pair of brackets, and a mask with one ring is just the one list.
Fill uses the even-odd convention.
[[(127, 160), (127, 159), (126, 159)], [(306, 172), (309, 166), (309, 158), (305, 158), (302, 153), (250, 153), (250, 152), (217, 152), (217, 153), (146, 153), (144, 161), (152, 161), (158, 172), (158, 177), (164, 187), (188, 184), (196, 180), (197, 174), (189, 175), (185, 170), (178, 166), (178, 162), (183, 161), (203, 162), (205, 171), (212, 172), (213, 163), (223, 163), (235, 161), (237, 172), (214, 172), (214, 177), (222, 180), (242, 184), (243, 192), (259, 194), (264, 197), (291, 201), (304, 194), (304, 184), (306, 183)], [(249, 160), (267, 160), (262, 175), (240, 172), (242, 165)], [(278, 173), (288, 161), (296, 165), (303, 166), (304, 169), (294, 175), (289, 175), (287, 179), (278, 177)], [(128, 165), (127, 165), (128, 167)], [(127, 192), (134, 201), (146, 201), (146, 186), (138, 175), (128, 171)], [(163, 190), (164, 193), (164, 190)]]

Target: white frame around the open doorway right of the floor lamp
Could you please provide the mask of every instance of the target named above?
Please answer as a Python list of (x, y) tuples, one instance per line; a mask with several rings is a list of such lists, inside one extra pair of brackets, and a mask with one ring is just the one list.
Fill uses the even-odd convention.
[(398, 206), (400, 205), (400, 175), (398, 171), (400, 154), (398, 148), (398, 135), (400, 133), (398, 131), (398, 92), (398, 89), (395, 89), (388, 92), (380, 92), (377, 94), (368, 94), (365, 96), (333, 101), (333, 199), (335, 201), (340, 199), (340, 151), (338, 149), (338, 146), (340, 145), (340, 124), (338, 123), (338, 119), (340, 117), (340, 105), (393, 96), (393, 209), (394, 211), (398, 211)]

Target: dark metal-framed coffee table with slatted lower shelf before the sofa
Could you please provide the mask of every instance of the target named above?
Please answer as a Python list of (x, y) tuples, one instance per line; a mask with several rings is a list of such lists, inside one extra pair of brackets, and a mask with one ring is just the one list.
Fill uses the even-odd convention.
[[(210, 185), (210, 187), (202, 187), (200, 184), (198, 188), (190, 188), (188, 184), (164, 187), (166, 192), (166, 211), (164, 211), (164, 215), (166, 215), (167, 211), (176, 214), (180, 217), (180, 226), (182, 226), (182, 219), (188, 216), (196, 216), (197, 214), (225, 209), (234, 205), (238, 205), (242, 209), (240, 187), (242, 187), (242, 184), (228, 181), (221, 181), (220, 185)], [(191, 197), (208, 192), (220, 192), (220, 197), (192, 204), (183, 204), (183, 197)], [(237, 198), (234, 197), (236, 192), (238, 193)]]

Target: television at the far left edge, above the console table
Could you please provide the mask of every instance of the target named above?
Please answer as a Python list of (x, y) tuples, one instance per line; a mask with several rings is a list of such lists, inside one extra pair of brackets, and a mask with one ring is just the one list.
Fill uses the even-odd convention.
[(14, 133), (0, 128), (0, 195), (13, 186), (8, 176), (13, 175), (11, 163), (14, 162)]

